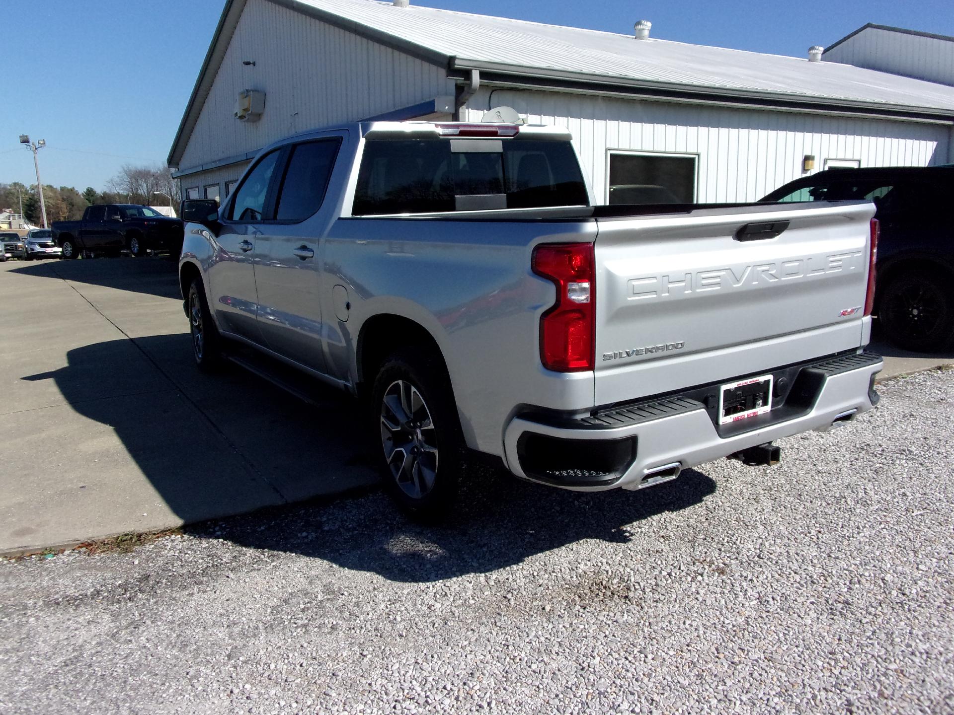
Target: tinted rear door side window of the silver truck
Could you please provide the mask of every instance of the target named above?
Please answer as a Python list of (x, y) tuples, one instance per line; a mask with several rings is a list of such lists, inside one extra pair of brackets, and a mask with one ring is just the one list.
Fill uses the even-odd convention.
[(276, 218), (302, 221), (321, 208), (340, 145), (341, 139), (334, 138), (305, 142), (292, 149), (281, 180)]

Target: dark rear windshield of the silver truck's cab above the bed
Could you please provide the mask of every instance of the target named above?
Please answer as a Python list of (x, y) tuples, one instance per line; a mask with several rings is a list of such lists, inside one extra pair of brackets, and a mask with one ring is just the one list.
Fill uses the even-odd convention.
[(585, 206), (569, 142), (534, 139), (370, 139), (354, 215)]

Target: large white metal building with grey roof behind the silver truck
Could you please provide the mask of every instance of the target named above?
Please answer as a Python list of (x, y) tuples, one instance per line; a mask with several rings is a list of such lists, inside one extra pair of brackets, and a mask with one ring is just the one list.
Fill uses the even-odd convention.
[(416, 7), (228, 0), (169, 163), (224, 197), (288, 134), (370, 117), (568, 127), (603, 201), (749, 201), (827, 166), (954, 162), (954, 88), (811, 59)]

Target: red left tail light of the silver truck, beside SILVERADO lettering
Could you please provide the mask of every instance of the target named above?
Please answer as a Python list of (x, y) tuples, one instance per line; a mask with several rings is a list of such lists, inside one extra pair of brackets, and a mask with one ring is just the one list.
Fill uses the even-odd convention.
[(537, 246), (533, 273), (550, 278), (556, 303), (540, 317), (540, 359), (561, 373), (593, 369), (595, 281), (591, 243)]

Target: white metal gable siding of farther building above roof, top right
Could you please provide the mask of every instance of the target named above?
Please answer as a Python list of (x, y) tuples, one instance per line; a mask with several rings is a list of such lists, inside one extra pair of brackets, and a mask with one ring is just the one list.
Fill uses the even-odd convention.
[(826, 51), (822, 61), (954, 85), (954, 42), (937, 37), (866, 28)]

